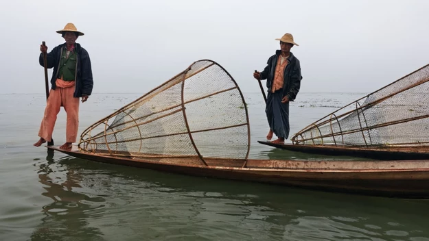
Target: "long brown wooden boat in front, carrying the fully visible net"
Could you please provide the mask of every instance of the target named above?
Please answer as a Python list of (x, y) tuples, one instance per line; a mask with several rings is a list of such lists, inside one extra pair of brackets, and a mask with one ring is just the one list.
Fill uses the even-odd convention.
[[(227, 160), (196, 157), (159, 157), (86, 153), (48, 147), (73, 157), (185, 175), (274, 183), (299, 188), (391, 196), (429, 197), (429, 160), (393, 161), (299, 161)], [(174, 160), (172, 160), (174, 159)]]

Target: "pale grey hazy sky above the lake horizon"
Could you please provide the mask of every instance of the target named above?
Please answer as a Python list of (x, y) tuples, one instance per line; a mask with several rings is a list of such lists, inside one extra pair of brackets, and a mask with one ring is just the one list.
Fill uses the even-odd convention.
[[(293, 34), (302, 92), (369, 93), (429, 63), (429, 1), (14, 0), (0, 8), (0, 93), (44, 93), (39, 45), (72, 22), (93, 93), (152, 90), (192, 62), (218, 62), (244, 92)], [(49, 70), (49, 79), (51, 70)]]

